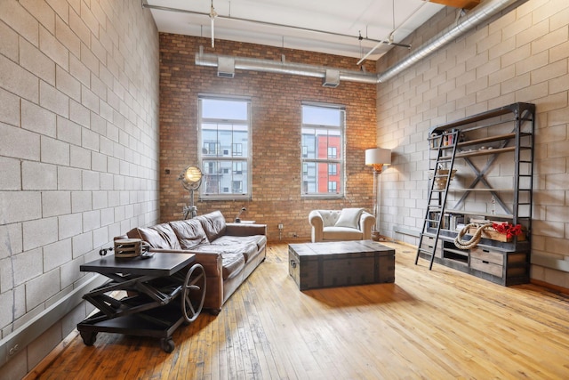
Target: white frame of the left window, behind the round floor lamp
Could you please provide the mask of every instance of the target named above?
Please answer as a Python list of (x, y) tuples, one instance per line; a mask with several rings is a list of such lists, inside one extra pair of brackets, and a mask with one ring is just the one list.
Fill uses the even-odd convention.
[[(235, 120), (235, 119), (224, 119), (224, 118), (215, 118), (215, 117), (203, 117), (202, 115), (202, 111), (203, 111), (203, 107), (202, 107), (202, 101), (204, 99), (207, 100), (219, 100), (219, 101), (243, 101), (246, 103), (246, 108), (247, 108), (247, 120), (244, 123), (244, 120)], [(199, 188), (199, 199), (200, 200), (232, 200), (232, 199), (251, 199), (252, 198), (252, 100), (249, 97), (244, 97), (244, 96), (233, 96), (233, 95), (220, 95), (220, 94), (212, 94), (212, 93), (199, 93), (197, 95), (197, 125), (196, 125), (196, 130), (197, 130), (197, 138), (198, 138), (198, 143), (197, 146), (198, 147), (204, 147), (205, 144), (208, 144), (208, 146), (212, 146), (212, 142), (204, 142), (204, 133), (203, 133), (203, 129), (202, 129), (202, 125), (204, 124), (217, 124), (217, 125), (244, 125), (246, 124), (247, 127), (247, 138), (246, 138), (246, 142), (247, 142), (247, 146), (244, 146), (243, 141), (238, 141), (238, 142), (234, 142), (231, 141), (230, 143), (230, 149), (231, 149), (231, 154), (228, 157), (225, 157), (225, 155), (219, 155), (217, 157), (211, 157), (211, 156), (206, 156), (204, 155), (204, 152), (202, 149), (199, 149), (197, 152), (197, 159), (199, 162), (199, 167), (202, 168), (202, 172), (204, 174), (204, 177), (209, 173), (205, 172), (205, 165), (209, 165), (212, 163), (217, 163), (214, 164), (213, 166), (220, 166), (220, 164), (222, 162), (230, 162), (232, 163), (231, 166), (228, 169), (228, 173), (225, 173), (225, 169), (223, 167), (220, 166), (220, 174), (224, 175), (224, 174), (228, 174), (230, 175), (230, 181), (228, 182), (228, 185), (223, 185), (222, 183), (219, 183), (219, 189), (216, 193), (205, 193), (206, 190), (206, 186), (204, 186), (204, 181), (205, 178), (202, 182), (202, 185)], [(215, 142), (216, 144), (216, 151), (219, 153), (222, 148), (220, 147), (220, 140)], [(240, 150), (238, 152), (238, 154), (234, 154), (233, 148), (239, 145), (240, 146)], [(244, 150), (246, 150), (247, 154), (246, 156), (244, 155)], [(239, 166), (245, 167), (247, 174), (246, 174), (246, 178), (243, 179), (235, 179), (233, 177), (235, 173), (234, 168), (236, 167), (236, 163), (240, 164)], [(241, 171), (241, 173), (243, 173)], [(239, 174), (237, 174), (239, 175)], [(230, 193), (226, 193), (224, 192), (224, 189), (228, 188), (229, 190), (233, 191), (234, 187), (233, 187), (233, 183), (234, 182), (241, 182), (242, 183), (242, 190), (243, 193), (241, 194), (236, 194), (233, 192)], [(243, 182), (246, 181), (246, 186), (243, 189)]]

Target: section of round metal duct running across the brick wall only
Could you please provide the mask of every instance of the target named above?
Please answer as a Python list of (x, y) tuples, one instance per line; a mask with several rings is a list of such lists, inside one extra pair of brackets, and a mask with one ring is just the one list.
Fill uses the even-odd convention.
[[(232, 57), (228, 55), (204, 53), (203, 47), (196, 53), (196, 65), (219, 69), (219, 61), (233, 60), (234, 69), (264, 71), (276, 74), (298, 75), (303, 77), (326, 77), (326, 70), (332, 68), (309, 65), (305, 63), (292, 63), (283, 61), (262, 60), (258, 58)], [(376, 84), (377, 75), (364, 71), (333, 69), (340, 72), (340, 80), (349, 82)]]

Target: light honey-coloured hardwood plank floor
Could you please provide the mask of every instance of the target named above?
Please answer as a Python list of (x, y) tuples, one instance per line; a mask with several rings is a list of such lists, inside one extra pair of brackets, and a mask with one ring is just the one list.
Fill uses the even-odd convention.
[(286, 244), (218, 317), (158, 341), (100, 333), (61, 344), (28, 378), (450, 379), (569, 378), (569, 299), (543, 287), (500, 287), (397, 249), (396, 282), (300, 292)]

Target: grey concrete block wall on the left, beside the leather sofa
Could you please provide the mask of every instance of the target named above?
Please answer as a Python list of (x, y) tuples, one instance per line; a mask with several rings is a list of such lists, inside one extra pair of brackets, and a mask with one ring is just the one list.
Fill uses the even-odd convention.
[[(0, 1), (0, 338), (158, 219), (158, 33), (139, 0)], [(0, 368), (21, 378), (92, 308)]]

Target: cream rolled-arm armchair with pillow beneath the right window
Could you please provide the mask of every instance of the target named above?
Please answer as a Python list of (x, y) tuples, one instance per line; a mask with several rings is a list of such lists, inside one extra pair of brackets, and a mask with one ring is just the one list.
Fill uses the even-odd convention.
[(312, 242), (372, 239), (375, 217), (362, 208), (312, 210)]

